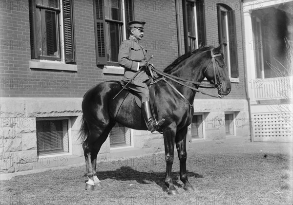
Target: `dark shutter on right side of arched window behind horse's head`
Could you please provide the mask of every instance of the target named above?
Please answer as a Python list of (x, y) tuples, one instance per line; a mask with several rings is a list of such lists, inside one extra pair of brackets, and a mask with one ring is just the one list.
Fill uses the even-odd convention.
[(229, 30), (231, 77), (238, 77), (235, 11), (234, 10), (228, 11), (227, 16), (228, 16), (228, 30)]

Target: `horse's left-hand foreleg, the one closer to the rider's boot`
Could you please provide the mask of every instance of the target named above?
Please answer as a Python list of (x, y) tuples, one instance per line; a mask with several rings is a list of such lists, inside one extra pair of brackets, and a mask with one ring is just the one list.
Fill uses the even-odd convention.
[(168, 194), (178, 194), (177, 189), (172, 182), (172, 165), (174, 160), (174, 144), (175, 144), (175, 130), (166, 130), (164, 132), (164, 144), (165, 144), (165, 160), (166, 166), (166, 176), (165, 185), (169, 188)]

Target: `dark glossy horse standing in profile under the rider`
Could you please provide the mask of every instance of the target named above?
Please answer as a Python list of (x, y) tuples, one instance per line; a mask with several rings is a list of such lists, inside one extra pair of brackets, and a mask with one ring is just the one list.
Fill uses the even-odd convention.
[[(164, 73), (196, 82), (201, 82), (206, 77), (211, 84), (220, 85), (219, 94), (227, 95), (231, 90), (231, 82), (222, 54), (222, 45), (218, 48), (202, 47), (184, 54), (170, 64)], [(188, 88), (170, 79), (166, 80), (186, 98), (180, 96), (165, 81), (154, 84), (156, 94), (154, 111), (157, 119), (165, 119), (161, 129), (164, 134), (167, 163), (165, 184), (169, 194), (176, 194), (178, 192), (171, 178), (174, 144), (176, 144), (180, 160), (180, 180), (185, 185), (184, 189), (193, 190), (192, 185), (188, 182), (186, 171), (186, 134), (193, 116), (193, 106), (190, 105), (193, 104), (196, 93), (190, 89), (190, 86), (198, 88), (198, 85), (184, 82), (189, 86)], [(86, 189), (92, 190), (94, 185), (100, 185), (96, 171), (97, 154), (116, 122), (131, 129), (147, 130), (141, 109), (136, 105), (133, 94), (123, 90), (113, 100), (113, 97), (120, 90), (120, 82), (106, 81), (94, 86), (84, 94), (80, 138), (83, 141), (88, 178)]]

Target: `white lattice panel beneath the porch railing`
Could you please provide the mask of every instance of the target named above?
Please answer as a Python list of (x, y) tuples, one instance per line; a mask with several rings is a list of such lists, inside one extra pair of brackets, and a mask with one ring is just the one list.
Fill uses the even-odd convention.
[(292, 115), (286, 112), (253, 114), (254, 141), (292, 142)]

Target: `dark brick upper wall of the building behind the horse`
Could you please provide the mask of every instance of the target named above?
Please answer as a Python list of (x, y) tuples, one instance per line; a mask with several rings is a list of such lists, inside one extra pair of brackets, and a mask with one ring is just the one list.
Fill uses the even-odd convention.
[[(206, 33), (208, 45), (217, 46), (216, 3), (206, 0)], [(221, 1), (223, 2), (223, 1)], [(242, 40), (239, 0), (229, 1), (236, 11), (237, 40)], [(143, 43), (152, 63), (163, 70), (178, 57), (175, 0), (135, 0), (135, 19), (146, 21)], [(182, 51), (184, 51), (182, 2), (180, 1)], [(96, 66), (92, 0), (74, 1), (74, 26), (77, 72), (29, 68), (30, 33), (28, 1), (1, 1), (1, 96), (2, 97), (82, 97), (94, 84), (105, 79), (121, 79), (122, 75), (105, 75)], [(232, 83), (227, 96), (245, 98), (243, 50), (238, 49), (240, 83)], [(215, 90), (210, 91), (216, 93)], [(197, 98), (209, 98), (197, 94)]]

